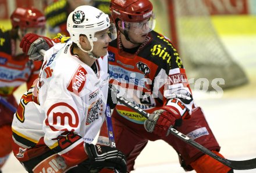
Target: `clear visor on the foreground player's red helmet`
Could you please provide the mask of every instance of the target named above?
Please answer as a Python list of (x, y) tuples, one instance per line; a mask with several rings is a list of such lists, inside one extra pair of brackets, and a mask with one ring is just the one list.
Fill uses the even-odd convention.
[(152, 14), (149, 19), (140, 22), (122, 21), (122, 28), (134, 34), (148, 34), (148, 32), (155, 28), (155, 15)]

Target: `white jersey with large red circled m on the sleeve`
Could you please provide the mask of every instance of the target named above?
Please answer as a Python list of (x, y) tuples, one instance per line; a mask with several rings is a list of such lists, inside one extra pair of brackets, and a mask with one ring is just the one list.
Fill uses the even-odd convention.
[(20, 161), (32, 158), (28, 151), (38, 145), (67, 157), (84, 152), (84, 142), (93, 142), (105, 120), (108, 56), (95, 61), (95, 73), (70, 53), (71, 45), (55, 45), (45, 53), (37, 87), (20, 100), (12, 123)]

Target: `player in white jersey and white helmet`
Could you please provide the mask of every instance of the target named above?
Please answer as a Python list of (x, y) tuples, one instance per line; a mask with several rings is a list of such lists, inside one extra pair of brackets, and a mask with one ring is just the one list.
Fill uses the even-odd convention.
[(70, 41), (46, 51), (37, 82), (20, 100), (13, 152), (28, 172), (126, 172), (123, 153), (91, 143), (105, 120), (115, 27), (101, 10), (80, 6), (67, 31)]

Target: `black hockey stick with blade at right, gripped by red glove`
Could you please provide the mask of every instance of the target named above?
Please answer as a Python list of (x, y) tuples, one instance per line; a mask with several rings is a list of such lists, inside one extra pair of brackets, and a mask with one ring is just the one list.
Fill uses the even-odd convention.
[[(138, 108), (138, 106), (134, 105), (133, 103), (127, 101), (125, 98), (117, 96), (117, 99), (120, 103), (123, 105), (127, 106), (130, 109), (133, 109), (133, 111), (136, 111), (137, 113), (140, 113), (140, 115), (143, 115), (144, 117), (148, 118), (150, 115), (149, 113), (143, 111), (143, 109)], [(200, 150), (202, 153), (207, 154), (208, 156), (211, 156), (215, 160), (218, 160), (219, 162), (227, 165), (228, 167), (234, 169), (234, 170), (251, 170), (256, 168), (256, 158), (255, 159), (250, 159), (250, 160), (241, 160), (241, 161), (236, 161), (236, 160), (228, 160), (224, 159), (215, 153), (211, 152), (207, 148), (204, 148), (204, 146), (200, 145), (199, 143), (193, 141), (186, 135), (182, 134), (181, 132), (177, 131), (175, 128), (170, 128), (170, 133), (175, 135), (177, 138), (182, 139), (182, 141), (189, 143), (191, 146), (194, 148), (197, 148)]]

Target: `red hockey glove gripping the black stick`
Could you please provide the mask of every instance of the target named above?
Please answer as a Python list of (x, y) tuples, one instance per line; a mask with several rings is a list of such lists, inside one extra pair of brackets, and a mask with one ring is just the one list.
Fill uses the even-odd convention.
[(144, 122), (144, 127), (148, 132), (154, 132), (159, 137), (166, 137), (169, 135), (169, 128), (181, 126), (181, 122), (182, 116), (180, 116), (177, 109), (171, 106), (163, 106), (148, 116), (148, 119)]

